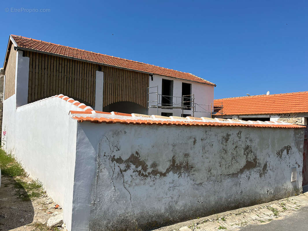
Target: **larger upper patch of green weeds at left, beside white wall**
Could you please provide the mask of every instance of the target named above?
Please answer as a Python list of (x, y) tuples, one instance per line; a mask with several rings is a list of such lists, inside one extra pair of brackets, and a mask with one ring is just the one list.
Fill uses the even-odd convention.
[(0, 149), (0, 168), (1, 174), (6, 176), (26, 176), (25, 170), (22, 168), (11, 154), (6, 154)]

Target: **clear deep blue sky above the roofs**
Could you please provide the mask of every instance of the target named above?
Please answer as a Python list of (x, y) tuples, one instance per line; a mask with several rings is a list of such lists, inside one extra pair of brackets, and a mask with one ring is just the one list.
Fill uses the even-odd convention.
[(307, 1), (0, 4), (2, 63), (17, 34), (190, 72), (217, 84), (215, 99), (308, 90)]

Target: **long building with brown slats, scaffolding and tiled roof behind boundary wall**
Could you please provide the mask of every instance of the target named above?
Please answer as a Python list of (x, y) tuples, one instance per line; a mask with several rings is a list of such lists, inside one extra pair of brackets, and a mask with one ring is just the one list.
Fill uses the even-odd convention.
[(209, 117), (216, 86), (190, 73), (16, 35), (3, 68), (4, 100), (17, 92), (17, 107), (61, 92), (99, 111)]

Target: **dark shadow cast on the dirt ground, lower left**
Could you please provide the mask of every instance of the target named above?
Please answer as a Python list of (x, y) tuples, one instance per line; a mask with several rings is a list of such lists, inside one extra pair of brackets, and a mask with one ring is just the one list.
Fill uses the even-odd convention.
[(24, 188), (10, 176), (1, 177), (0, 231), (15, 229), (33, 221), (34, 208)]

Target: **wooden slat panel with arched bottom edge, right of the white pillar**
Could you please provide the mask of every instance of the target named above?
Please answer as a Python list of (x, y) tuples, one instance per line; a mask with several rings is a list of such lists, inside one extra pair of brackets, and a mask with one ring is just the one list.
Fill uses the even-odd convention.
[(149, 75), (103, 66), (103, 107), (116, 102), (132, 102), (147, 107)]

